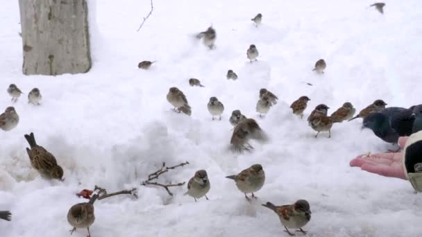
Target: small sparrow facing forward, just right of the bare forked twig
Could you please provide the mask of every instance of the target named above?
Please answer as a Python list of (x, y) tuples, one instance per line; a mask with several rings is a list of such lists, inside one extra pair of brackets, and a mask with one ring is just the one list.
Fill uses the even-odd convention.
[(187, 183), (187, 192), (185, 194), (194, 198), (196, 202), (196, 198), (205, 198), (208, 200), (207, 193), (210, 191), (210, 180), (208, 180), (207, 171), (205, 170), (198, 170), (196, 171), (194, 177), (189, 179)]

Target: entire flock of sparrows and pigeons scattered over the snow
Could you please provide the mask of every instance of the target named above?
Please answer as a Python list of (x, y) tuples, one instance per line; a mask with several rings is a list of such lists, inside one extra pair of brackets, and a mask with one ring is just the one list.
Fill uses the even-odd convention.
[[(385, 3), (374, 3), (371, 6), (383, 13)], [(258, 14), (251, 19), (255, 26), (258, 27), (262, 22), (262, 14)], [(214, 49), (214, 44), (217, 39), (217, 33), (214, 28), (210, 27), (207, 30), (196, 35), (196, 38), (203, 41), (203, 44), (209, 49)], [(251, 63), (257, 61), (259, 51), (254, 44), (251, 44), (246, 51), (246, 56)], [(154, 61), (155, 62), (155, 61)], [(140, 69), (149, 69), (154, 63), (151, 61), (143, 61), (138, 64)], [(327, 64), (325, 60), (321, 59), (316, 61), (313, 71), (323, 74)], [(237, 80), (237, 74), (233, 70), (228, 70), (226, 75), (228, 80)], [(204, 87), (201, 81), (196, 78), (189, 79), (189, 85), (192, 87)], [(21, 96), (22, 91), (15, 85), (11, 84), (7, 89), (8, 94), (12, 97), (12, 102), (17, 102)], [(40, 105), (42, 96), (40, 90), (34, 88), (28, 94), (28, 103), (33, 105)], [(177, 87), (171, 87), (167, 94), (168, 102), (174, 107), (175, 112), (183, 112), (184, 114), (191, 115), (192, 107), (189, 106), (185, 94), (183, 94)], [(259, 91), (258, 103), (256, 111), (262, 117), (269, 112), (269, 109), (277, 104), (278, 97), (271, 91), (262, 88)], [(290, 108), (292, 113), (303, 119), (303, 112), (307, 108), (307, 103), (310, 98), (301, 96), (295, 100)], [(353, 119), (362, 118), (363, 127), (370, 128), (374, 134), (382, 140), (389, 143), (396, 143), (398, 137), (409, 136), (410, 134), (422, 130), (422, 105), (414, 105), (410, 108), (402, 107), (385, 107), (387, 103), (383, 100), (375, 100), (373, 103), (362, 109), (359, 114), (355, 115), (356, 109), (350, 102), (344, 103), (339, 109), (328, 116), (328, 109), (325, 104), (317, 105), (307, 118), (310, 127), (317, 133), (318, 137), (320, 132), (328, 132), (328, 137), (331, 136), (331, 128), (334, 123), (341, 123), (343, 121), (351, 121)], [(208, 111), (212, 116), (212, 120), (221, 120), (221, 114), (224, 111), (224, 105), (217, 99), (211, 97), (208, 102)], [(233, 110), (230, 119), (230, 124), (234, 126), (233, 135), (230, 139), (230, 145), (234, 152), (243, 152), (244, 150), (251, 151), (253, 147), (248, 142), (251, 139), (259, 141), (267, 140), (266, 134), (262, 131), (258, 123), (254, 119), (247, 118), (239, 109)], [(4, 131), (10, 131), (15, 128), (19, 123), (19, 116), (14, 107), (7, 107), (5, 112), (0, 115), (0, 128)], [(31, 166), (46, 179), (58, 179), (63, 181), (63, 169), (56, 158), (45, 148), (37, 145), (35, 136), (31, 134), (24, 135), (30, 148), (26, 148)], [(244, 193), (246, 200), (251, 202), (256, 199), (255, 192), (258, 192), (265, 181), (264, 169), (260, 164), (242, 170), (237, 175), (227, 176), (228, 179), (233, 179), (235, 185)], [(187, 192), (185, 194), (194, 198), (195, 202), (199, 198), (205, 197), (208, 200), (207, 193), (210, 191), (210, 181), (208, 174), (205, 170), (198, 170), (194, 177), (189, 179), (187, 183)], [(251, 193), (251, 197), (248, 197)], [(69, 224), (74, 227), (71, 232), (76, 228), (87, 228), (90, 236), (90, 226), (95, 220), (94, 216), (94, 201), (98, 198), (94, 194), (89, 202), (82, 202), (72, 206), (67, 213), (67, 220)], [(285, 231), (293, 236), (294, 234), (289, 229), (298, 229), (303, 234), (306, 234), (302, 228), (310, 221), (311, 211), (310, 204), (306, 200), (298, 200), (294, 204), (276, 206), (271, 202), (262, 204), (274, 211), (280, 218), (280, 222), (285, 227)], [(11, 220), (10, 211), (0, 211), (0, 219)]]

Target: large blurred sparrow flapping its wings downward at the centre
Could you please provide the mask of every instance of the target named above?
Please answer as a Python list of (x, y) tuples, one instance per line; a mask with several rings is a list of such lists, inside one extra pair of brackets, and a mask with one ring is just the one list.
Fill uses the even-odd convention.
[(232, 150), (234, 152), (242, 152), (243, 150), (251, 151), (253, 147), (248, 143), (250, 139), (265, 141), (267, 140), (267, 135), (254, 119), (244, 119), (237, 123), (233, 129), (233, 135), (230, 139)]

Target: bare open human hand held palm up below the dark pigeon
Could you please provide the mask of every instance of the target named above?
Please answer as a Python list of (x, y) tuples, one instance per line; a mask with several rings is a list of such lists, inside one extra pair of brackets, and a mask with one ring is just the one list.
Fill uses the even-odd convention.
[[(408, 137), (400, 137), (398, 145), (404, 148)], [(405, 170), (403, 168), (403, 152), (388, 152), (368, 155), (359, 155), (351, 160), (352, 167), (360, 167), (370, 173), (386, 177), (397, 177), (406, 179)]]

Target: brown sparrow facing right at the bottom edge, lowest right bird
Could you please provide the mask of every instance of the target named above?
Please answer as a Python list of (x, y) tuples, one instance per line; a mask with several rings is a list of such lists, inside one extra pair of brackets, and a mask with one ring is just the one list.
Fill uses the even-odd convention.
[(276, 212), (278, 218), (280, 218), (281, 224), (286, 229), (285, 232), (287, 232), (290, 236), (294, 236), (294, 234), (287, 228), (298, 229), (298, 231), (301, 231), (303, 234), (307, 233), (302, 229), (302, 227), (311, 220), (312, 212), (310, 210), (310, 205), (306, 200), (298, 200), (294, 204), (278, 207), (271, 202), (267, 202), (267, 204), (262, 204), (262, 206)]

